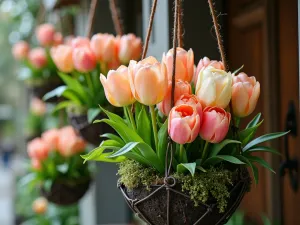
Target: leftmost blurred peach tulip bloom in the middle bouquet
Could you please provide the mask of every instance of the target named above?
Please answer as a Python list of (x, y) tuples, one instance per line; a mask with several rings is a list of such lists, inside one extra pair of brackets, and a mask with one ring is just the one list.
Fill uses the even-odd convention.
[(50, 53), (56, 67), (60, 71), (70, 73), (74, 70), (73, 50), (71, 46), (59, 45), (52, 47)]

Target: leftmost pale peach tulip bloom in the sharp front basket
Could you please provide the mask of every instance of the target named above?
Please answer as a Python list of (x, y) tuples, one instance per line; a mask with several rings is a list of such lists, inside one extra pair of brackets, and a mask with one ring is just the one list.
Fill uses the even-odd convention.
[(120, 66), (117, 70), (110, 70), (107, 78), (101, 74), (100, 81), (110, 104), (123, 107), (135, 102), (135, 98), (131, 93), (126, 66)]

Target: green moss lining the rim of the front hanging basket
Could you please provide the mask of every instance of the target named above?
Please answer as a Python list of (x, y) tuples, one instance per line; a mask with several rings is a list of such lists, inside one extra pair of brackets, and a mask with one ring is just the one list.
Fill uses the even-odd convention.
[[(120, 182), (129, 189), (146, 186), (150, 190), (151, 185), (163, 183), (163, 177), (155, 169), (145, 167), (134, 160), (126, 160), (119, 166)], [(200, 202), (206, 203), (213, 197), (220, 212), (225, 211), (230, 197), (228, 186), (233, 185), (234, 172), (222, 167), (212, 167), (206, 173), (196, 173), (194, 177), (191, 174), (177, 173), (173, 176), (181, 183), (182, 191), (191, 196), (195, 206)]]

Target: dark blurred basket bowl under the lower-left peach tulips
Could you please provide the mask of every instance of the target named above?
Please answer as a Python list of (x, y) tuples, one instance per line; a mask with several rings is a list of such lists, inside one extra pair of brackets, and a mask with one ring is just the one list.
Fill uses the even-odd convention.
[(42, 189), (41, 192), (48, 201), (67, 206), (77, 203), (89, 189), (90, 183), (90, 178), (81, 180), (60, 179), (53, 182), (49, 192), (45, 189)]

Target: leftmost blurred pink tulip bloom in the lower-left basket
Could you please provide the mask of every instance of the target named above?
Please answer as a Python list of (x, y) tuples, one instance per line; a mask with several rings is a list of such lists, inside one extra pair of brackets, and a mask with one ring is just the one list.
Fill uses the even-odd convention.
[(50, 151), (49, 145), (41, 138), (35, 138), (27, 145), (27, 152), (30, 158), (44, 160), (48, 157)]

